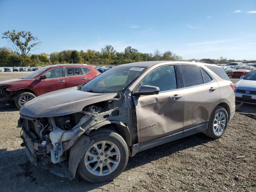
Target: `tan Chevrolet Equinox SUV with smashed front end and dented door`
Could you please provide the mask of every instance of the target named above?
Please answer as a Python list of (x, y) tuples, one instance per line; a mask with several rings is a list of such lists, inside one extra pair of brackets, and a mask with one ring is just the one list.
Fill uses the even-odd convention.
[(38, 96), (20, 116), (33, 164), (106, 182), (137, 152), (198, 132), (220, 138), (234, 112), (234, 84), (223, 68), (154, 61), (116, 66), (83, 86)]

